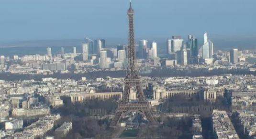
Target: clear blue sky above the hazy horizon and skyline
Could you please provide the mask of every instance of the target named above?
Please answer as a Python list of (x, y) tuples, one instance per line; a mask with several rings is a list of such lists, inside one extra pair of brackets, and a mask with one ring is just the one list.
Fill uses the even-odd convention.
[[(129, 0), (0, 0), (0, 42), (127, 38)], [(256, 36), (256, 0), (133, 0), (135, 36)]]

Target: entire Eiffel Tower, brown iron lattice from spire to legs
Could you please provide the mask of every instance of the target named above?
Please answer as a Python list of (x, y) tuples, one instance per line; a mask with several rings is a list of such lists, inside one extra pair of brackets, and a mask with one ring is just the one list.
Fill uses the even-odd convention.
[[(136, 52), (134, 46), (134, 10), (132, 8), (131, 1), (130, 8), (128, 9), (127, 14), (129, 17), (128, 66), (126, 77), (124, 79), (122, 100), (118, 102), (118, 107), (116, 109), (115, 116), (112, 119), (110, 126), (117, 126), (123, 116), (128, 115), (132, 112), (143, 115), (151, 124), (157, 125), (149, 107), (149, 103), (147, 102), (143, 93), (142, 83), (138, 73)], [(136, 102), (129, 101), (130, 90), (132, 87), (136, 89), (136, 94), (138, 98)]]

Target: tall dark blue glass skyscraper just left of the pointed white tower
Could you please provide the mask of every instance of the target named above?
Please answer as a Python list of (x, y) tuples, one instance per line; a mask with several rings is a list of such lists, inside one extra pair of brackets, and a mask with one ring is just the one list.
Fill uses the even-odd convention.
[(187, 42), (187, 48), (190, 49), (190, 57), (189, 61), (192, 64), (198, 64), (198, 43), (197, 39), (194, 38), (193, 35), (189, 35), (188, 42)]

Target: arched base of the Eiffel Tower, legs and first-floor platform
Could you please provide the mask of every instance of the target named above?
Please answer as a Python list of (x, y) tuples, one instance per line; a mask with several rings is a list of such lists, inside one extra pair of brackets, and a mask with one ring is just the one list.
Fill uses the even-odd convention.
[(118, 126), (120, 119), (132, 112), (137, 112), (143, 115), (152, 126), (158, 126), (148, 102), (119, 102), (110, 127)]

